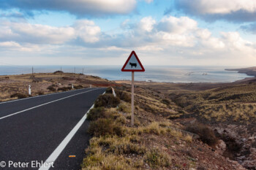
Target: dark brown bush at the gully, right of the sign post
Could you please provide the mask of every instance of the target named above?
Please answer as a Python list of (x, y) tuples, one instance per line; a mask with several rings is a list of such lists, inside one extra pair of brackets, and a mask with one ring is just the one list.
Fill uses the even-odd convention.
[(214, 131), (211, 128), (208, 128), (207, 125), (203, 125), (201, 123), (196, 123), (192, 125), (188, 125), (186, 127), (186, 131), (197, 134), (200, 136), (200, 140), (210, 146), (214, 146), (217, 144), (218, 139), (214, 134)]

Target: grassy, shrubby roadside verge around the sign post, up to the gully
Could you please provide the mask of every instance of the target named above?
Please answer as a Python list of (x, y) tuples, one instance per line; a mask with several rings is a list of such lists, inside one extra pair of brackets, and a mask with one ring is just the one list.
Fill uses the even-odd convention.
[[(91, 122), (87, 133), (92, 138), (86, 149), (82, 169), (211, 167), (209, 163), (202, 163), (198, 159), (202, 150), (208, 152), (208, 147), (193, 139), (192, 134), (180, 131), (179, 128), (184, 127), (168, 118), (178, 113), (168, 109), (178, 107), (173, 106), (169, 99), (158, 100), (159, 97), (154, 94), (146, 93), (143, 89), (136, 90), (134, 127), (130, 125), (129, 90), (117, 88), (115, 98), (112, 90), (108, 88), (105, 95), (97, 98), (94, 109), (88, 115)], [(203, 133), (208, 132), (208, 128), (194, 132), (199, 134), (202, 133), (201, 130)], [(213, 142), (211, 140), (216, 139), (209, 138), (206, 142)], [(211, 152), (207, 154), (206, 157), (212, 156)], [(218, 158), (218, 161), (225, 159)]]

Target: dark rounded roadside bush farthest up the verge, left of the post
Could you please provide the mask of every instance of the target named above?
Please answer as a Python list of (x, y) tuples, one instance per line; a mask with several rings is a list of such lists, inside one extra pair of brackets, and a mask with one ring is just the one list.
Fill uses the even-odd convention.
[(95, 101), (94, 107), (117, 107), (120, 104), (120, 99), (112, 94), (100, 95)]

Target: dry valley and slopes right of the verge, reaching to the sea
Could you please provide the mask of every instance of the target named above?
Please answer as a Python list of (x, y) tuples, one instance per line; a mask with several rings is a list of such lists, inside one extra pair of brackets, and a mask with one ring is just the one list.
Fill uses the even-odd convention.
[[(140, 107), (178, 123), (187, 131), (200, 135), (202, 131), (187, 126), (208, 126), (218, 139), (210, 144), (215, 153), (230, 163), (237, 161), (246, 169), (256, 169), (255, 81), (249, 78), (232, 83), (136, 82), (135, 93), (146, 90), (151, 98), (167, 104), (163, 109), (161, 102), (144, 101)], [(118, 83), (129, 86), (129, 82)]]

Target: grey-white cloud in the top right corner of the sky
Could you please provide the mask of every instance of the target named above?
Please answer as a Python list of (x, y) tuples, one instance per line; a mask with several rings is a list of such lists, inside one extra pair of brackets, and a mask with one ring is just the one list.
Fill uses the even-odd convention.
[[(174, 4), (176, 9), (208, 21), (250, 22), (255, 21), (256, 17), (256, 1), (252, 0), (175, 0)], [(172, 10), (167, 9), (165, 13)]]

